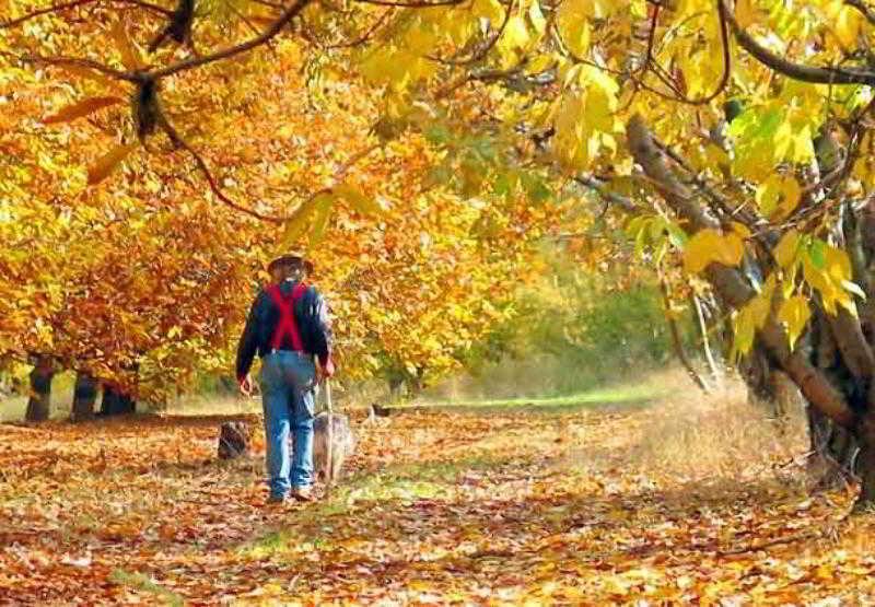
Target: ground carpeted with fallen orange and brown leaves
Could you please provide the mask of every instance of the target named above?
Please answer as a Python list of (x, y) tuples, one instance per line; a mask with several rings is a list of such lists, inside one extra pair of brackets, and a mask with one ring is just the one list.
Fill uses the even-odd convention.
[(213, 459), (219, 421), (0, 425), (0, 603), (875, 596), (875, 521), (807, 494), (803, 445), (737, 404), (393, 417), (359, 427), (329, 498), (288, 507), (260, 457)]

